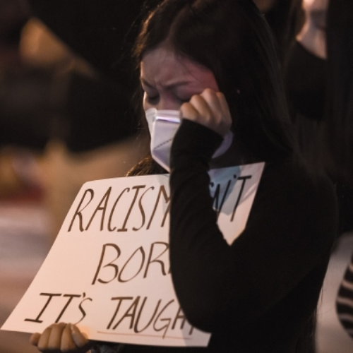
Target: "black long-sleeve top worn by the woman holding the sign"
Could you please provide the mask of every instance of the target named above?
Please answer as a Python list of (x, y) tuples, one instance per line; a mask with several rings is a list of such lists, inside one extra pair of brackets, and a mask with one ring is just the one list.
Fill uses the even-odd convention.
[[(124, 352), (308, 352), (337, 228), (335, 191), (292, 160), (267, 163), (246, 229), (217, 227), (208, 163), (222, 138), (183, 121), (172, 145), (170, 261), (186, 317), (207, 348), (126, 345)], [(306, 342), (306, 343), (307, 343)]]

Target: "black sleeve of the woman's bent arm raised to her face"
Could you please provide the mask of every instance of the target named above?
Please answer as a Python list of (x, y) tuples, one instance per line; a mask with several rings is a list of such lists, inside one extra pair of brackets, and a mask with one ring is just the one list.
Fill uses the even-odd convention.
[(229, 246), (208, 189), (219, 143), (213, 131), (183, 121), (171, 156), (172, 280), (188, 320), (209, 332), (245, 325), (284, 298), (327, 256), (337, 220), (330, 182), (271, 164), (246, 229)]

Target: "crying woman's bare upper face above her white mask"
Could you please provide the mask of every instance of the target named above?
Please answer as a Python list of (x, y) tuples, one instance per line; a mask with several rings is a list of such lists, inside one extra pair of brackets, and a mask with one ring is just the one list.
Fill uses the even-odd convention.
[(181, 104), (206, 88), (219, 90), (212, 71), (165, 47), (157, 47), (143, 56), (140, 80), (145, 91), (145, 110), (179, 110)]

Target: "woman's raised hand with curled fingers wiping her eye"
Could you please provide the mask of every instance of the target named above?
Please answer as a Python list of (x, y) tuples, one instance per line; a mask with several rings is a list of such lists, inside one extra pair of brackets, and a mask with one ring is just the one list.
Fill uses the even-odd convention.
[(193, 95), (190, 102), (182, 104), (181, 116), (202, 124), (223, 137), (232, 125), (232, 117), (225, 96), (209, 88), (201, 95)]

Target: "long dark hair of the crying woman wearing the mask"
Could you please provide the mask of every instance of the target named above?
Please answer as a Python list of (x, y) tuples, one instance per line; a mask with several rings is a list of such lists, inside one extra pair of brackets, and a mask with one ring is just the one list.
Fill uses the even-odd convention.
[(282, 160), (294, 142), (275, 42), (251, 0), (164, 0), (150, 13), (134, 55), (167, 44), (213, 71), (246, 162)]

